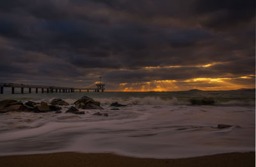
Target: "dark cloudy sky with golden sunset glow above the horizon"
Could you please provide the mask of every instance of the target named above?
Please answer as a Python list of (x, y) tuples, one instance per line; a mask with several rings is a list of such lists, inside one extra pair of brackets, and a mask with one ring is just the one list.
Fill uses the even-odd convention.
[(1, 1), (0, 58), (1, 83), (255, 88), (255, 1)]

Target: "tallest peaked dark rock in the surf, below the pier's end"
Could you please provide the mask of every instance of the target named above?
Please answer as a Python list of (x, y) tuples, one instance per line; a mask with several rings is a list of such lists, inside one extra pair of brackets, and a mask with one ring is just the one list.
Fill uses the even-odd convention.
[(81, 99), (74, 102), (77, 108), (81, 109), (103, 109), (100, 107), (100, 102), (96, 102), (90, 97), (83, 96)]

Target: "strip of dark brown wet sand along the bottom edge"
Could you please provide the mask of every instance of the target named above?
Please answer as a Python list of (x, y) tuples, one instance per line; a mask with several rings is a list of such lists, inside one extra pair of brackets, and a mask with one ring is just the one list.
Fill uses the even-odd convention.
[(132, 166), (132, 167), (161, 167), (161, 166), (255, 166), (255, 152), (228, 153), (191, 157), (185, 159), (142, 159), (124, 157), (113, 154), (82, 154), (76, 152), (62, 152), (54, 154), (12, 155), (0, 157), (0, 166)]

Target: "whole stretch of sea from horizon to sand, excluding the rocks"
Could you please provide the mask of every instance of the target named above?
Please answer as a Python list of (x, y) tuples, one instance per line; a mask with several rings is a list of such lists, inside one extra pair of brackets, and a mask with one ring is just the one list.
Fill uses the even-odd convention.
[[(104, 110), (65, 113), (86, 95)], [(132, 157), (181, 158), (255, 151), (255, 91), (4, 92), (2, 99), (70, 105), (60, 114), (0, 114), (0, 155), (52, 152), (112, 153)], [(191, 105), (210, 98), (211, 105)], [(111, 102), (125, 107), (110, 106)], [(119, 110), (113, 110), (118, 108)], [(108, 116), (93, 115), (96, 112)], [(218, 124), (233, 125), (218, 129)]]

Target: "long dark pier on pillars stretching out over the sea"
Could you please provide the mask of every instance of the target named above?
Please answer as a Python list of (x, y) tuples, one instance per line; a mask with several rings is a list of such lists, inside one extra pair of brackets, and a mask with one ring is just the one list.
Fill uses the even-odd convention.
[(72, 88), (72, 87), (62, 87), (62, 86), (42, 86), (34, 84), (15, 84), (15, 83), (0, 83), (0, 94), (4, 93), (4, 88), (12, 88), (12, 94), (15, 94), (15, 90), (20, 89), (20, 93), (24, 93), (24, 89), (28, 90), (28, 93), (31, 93), (32, 89), (35, 90), (35, 93), (72, 93), (75, 91), (81, 92), (85, 91), (104, 91), (105, 84), (97, 83), (95, 88)]

